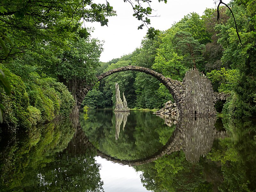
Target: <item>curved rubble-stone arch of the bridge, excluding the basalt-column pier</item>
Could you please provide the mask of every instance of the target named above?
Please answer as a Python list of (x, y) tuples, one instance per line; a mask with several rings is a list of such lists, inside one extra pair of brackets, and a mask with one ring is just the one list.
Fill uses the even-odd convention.
[[(165, 77), (160, 73), (157, 73), (156, 71), (149, 69), (149, 68), (144, 68), (144, 67), (139, 67), (139, 66), (125, 66), (125, 67), (119, 67), (119, 68), (115, 68), (112, 70), (109, 70), (105, 73), (100, 74), (97, 79), (98, 81), (100, 81), (101, 79), (110, 76), (114, 73), (118, 73), (121, 71), (139, 71), (139, 72), (143, 72), (146, 74), (149, 74), (153, 77), (155, 77), (157, 80), (159, 80), (162, 84), (164, 84), (164, 86), (169, 90), (169, 92), (172, 94), (173, 99), (175, 100), (177, 107), (178, 108), (182, 108), (183, 105), (181, 105), (182, 102), (184, 102), (184, 98), (181, 96), (184, 93), (184, 85), (182, 82), (177, 81), (177, 80), (173, 80), (171, 78)], [(81, 106), (81, 103), (84, 100), (84, 97), (86, 96), (86, 94), (92, 89), (93, 84), (83, 84), (81, 83), (78, 86), (78, 90), (76, 92), (76, 96), (77, 96), (77, 106), (78, 109)], [(80, 88), (80, 89), (79, 89)]]

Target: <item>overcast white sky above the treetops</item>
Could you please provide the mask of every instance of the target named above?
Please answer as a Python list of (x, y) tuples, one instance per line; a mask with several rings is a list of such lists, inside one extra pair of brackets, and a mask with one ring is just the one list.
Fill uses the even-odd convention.
[[(228, 3), (229, 1), (224, 0), (223, 2)], [(106, 3), (105, 0), (98, 0), (97, 2)], [(108, 2), (117, 13), (117, 16), (108, 18), (108, 27), (102, 27), (97, 22), (85, 23), (86, 27), (95, 28), (91, 33), (92, 38), (105, 42), (104, 51), (100, 56), (100, 61), (103, 62), (133, 52), (137, 47), (140, 47), (141, 40), (147, 33), (146, 27), (137, 29), (141, 22), (132, 16), (133, 10), (129, 3), (124, 3), (123, 0), (108, 0)], [(165, 4), (152, 0), (151, 7), (156, 11), (152, 15), (159, 17), (151, 17), (149, 27), (166, 30), (190, 12), (196, 12), (201, 16), (206, 8), (214, 8), (215, 3), (214, 0), (167, 0), (167, 4)]]

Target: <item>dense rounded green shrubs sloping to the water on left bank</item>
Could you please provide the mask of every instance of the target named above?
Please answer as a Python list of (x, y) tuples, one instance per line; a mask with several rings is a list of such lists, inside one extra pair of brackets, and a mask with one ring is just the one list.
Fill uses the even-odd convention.
[[(75, 101), (62, 83), (51, 77), (42, 78), (22, 66), (20, 76), (1, 65), (11, 84), (11, 95), (0, 88), (0, 103), (3, 105), (4, 123), (1, 128), (15, 132), (18, 128), (29, 129), (36, 124), (52, 121), (57, 116), (69, 116)], [(17, 68), (15, 69), (17, 72)]]

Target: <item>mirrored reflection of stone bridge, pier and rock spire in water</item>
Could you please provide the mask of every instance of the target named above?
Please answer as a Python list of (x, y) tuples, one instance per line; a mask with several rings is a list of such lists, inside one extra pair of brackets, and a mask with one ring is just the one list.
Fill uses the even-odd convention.
[[(123, 128), (125, 126), (127, 116), (128, 114), (117, 114), (116, 116), (116, 118), (120, 118), (120, 120), (116, 119), (116, 139), (118, 139), (117, 135), (120, 131), (121, 123), (123, 122)], [(178, 119), (169, 117), (164, 118), (164, 121), (165, 124), (169, 126), (176, 124), (176, 129), (172, 133), (172, 136), (168, 142), (155, 154), (142, 159), (121, 160), (104, 154), (97, 149), (98, 156), (101, 156), (102, 158), (114, 163), (134, 166), (150, 163), (166, 154), (183, 150), (188, 161), (198, 162), (200, 156), (204, 156), (209, 153), (214, 139), (223, 138), (226, 136), (226, 132), (217, 131), (215, 129), (214, 124), (216, 123), (216, 117), (197, 117), (196, 119), (195, 117), (181, 117)], [(84, 134), (79, 122), (77, 124), (77, 130), (72, 143), (70, 143), (69, 146), (71, 151), (74, 150), (72, 149), (72, 146), (76, 146), (76, 148), (78, 147), (79, 151), (85, 151), (85, 149), (89, 146), (95, 148)]]

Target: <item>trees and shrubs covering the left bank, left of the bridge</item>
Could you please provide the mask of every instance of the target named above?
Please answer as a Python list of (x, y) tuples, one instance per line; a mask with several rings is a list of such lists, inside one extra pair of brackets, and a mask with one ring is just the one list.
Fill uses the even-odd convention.
[(65, 85), (96, 80), (102, 44), (82, 24), (106, 25), (105, 17), (115, 11), (109, 4), (86, 3), (1, 1), (1, 127), (15, 132), (69, 116), (75, 101)]

